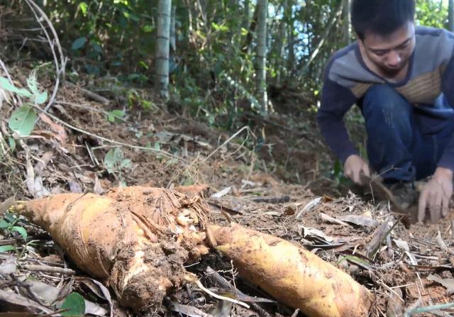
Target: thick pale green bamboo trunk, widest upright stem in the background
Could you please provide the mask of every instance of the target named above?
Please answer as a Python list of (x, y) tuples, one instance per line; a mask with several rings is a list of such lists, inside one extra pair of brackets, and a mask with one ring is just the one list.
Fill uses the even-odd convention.
[(172, 0), (160, 0), (157, 16), (156, 89), (160, 96), (169, 97), (170, 14)]

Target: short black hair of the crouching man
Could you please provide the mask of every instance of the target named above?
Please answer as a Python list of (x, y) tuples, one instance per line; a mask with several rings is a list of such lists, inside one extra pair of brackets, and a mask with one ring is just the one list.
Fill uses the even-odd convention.
[(352, 26), (361, 40), (365, 33), (389, 35), (414, 21), (414, 0), (353, 0)]

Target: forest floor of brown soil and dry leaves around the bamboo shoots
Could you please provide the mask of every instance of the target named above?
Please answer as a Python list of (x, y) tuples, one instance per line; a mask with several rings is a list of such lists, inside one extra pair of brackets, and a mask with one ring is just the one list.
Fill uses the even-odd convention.
[[(111, 122), (108, 111), (118, 106), (86, 99), (78, 87), (62, 87), (48, 119), (41, 118), (31, 136), (18, 138), (13, 152), (2, 152), (0, 202), (11, 196), (26, 200), (63, 192), (102, 194), (121, 182), (170, 189), (207, 184), (214, 221), (222, 223), (227, 217), (303, 245), (341, 267), (375, 294), (370, 316), (400, 316), (416, 306), (452, 302), (453, 216), (436, 225), (405, 228), (386, 202), (339, 184), (330, 176), (333, 162), (317, 132), (314, 111), (308, 107), (297, 118), (279, 114), (305, 104), (299, 98), (295, 91), (281, 91), (273, 99), (277, 113), (270, 118), (245, 115), (236, 123), (261, 129), (221, 131), (188, 118), (178, 107), (166, 109), (159, 99), (153, 99), (152, 111), (126, 109), (124, 118)], [(13, 109), (6, 103), (0, 108), (4, 140), (11, 136), (6, 126)], [(265, 143), (258, 148), (258, 135), (263, 134)], [(6, 142), (2, 145), (8, 149)], [(106, 158), (115, 149), (116, 156)], [(0, 301), (5, 304), (0, 311), (19, 312), (27, 306), (30, 311), (30, 302), (40, 311), (74, 290), (92, 302), (89, 313), (94, 316), (134, 316), (118, 306), (113, 293), (110, 297), (74, 267), (43, 230), (22, 218), (6, 221), (26, 228), (27, 242), (20, 230), (0, 231), (0, 245), (16, 248), (0, 253)], [(243, 293), (269, 298), (217, 253), (187, 269), (205, 287), (213, 287), (208, 266)], [(34, 282), (26, 284), (27, 278)], [(150, 316), (304, 316), (276, 303), (256, 303), (250, 309), (232, 306), (193, 285), (176, 289), (169, 301), (173, 304), (162, 304)], [(450, 316), (446, 311), (431, 314)]]

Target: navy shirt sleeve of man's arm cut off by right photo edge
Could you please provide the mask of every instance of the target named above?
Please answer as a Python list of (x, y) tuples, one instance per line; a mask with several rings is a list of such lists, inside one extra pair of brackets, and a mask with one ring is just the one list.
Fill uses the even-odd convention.
[[(442, 83), (443, 94), (448, 99), (448, 103), (454, 108), (454, 55), (445, 69)], [(454, 171), (454, 133), (448, 144), (445, 145), (445, 150), (438, 162), (438, 166)]]

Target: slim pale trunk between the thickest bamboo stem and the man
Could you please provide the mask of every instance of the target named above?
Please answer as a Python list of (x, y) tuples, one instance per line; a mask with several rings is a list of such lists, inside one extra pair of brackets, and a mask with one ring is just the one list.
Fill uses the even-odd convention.
[(257, 79), (258, 101), (263, 116), (268, 112), (267, 84), (266, 84), (266, 53), (267, 53), (267, 16), (268, 0), (258, 0), (257, 21), (257, 60), (255, 77)]

